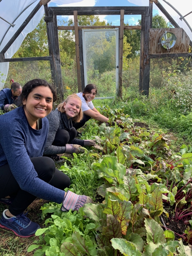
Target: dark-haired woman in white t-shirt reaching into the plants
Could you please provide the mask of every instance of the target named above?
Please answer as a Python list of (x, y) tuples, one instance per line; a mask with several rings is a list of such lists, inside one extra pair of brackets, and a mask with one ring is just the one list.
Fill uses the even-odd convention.
[(81, 109), (83, 111), (83, 119), (79, 123), (73, 123), (73, 127), (77, 130), (84, 126), (84, 124), (92, 117), (100, 122), (108, 123), (109, 119), (100, 114), (100, 112), (93, 106), (92, 100), (97, 94), (97, 87), (94, 84), (87, 84), (83, 92), (77, 93), (82, 101)]

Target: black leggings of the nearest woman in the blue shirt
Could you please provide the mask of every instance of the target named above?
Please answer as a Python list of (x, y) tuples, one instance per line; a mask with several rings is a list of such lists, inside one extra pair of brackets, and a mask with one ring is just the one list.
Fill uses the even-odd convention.
[[(51, 158), (42, 156), (30, 159), (39, 179), (61, 190), (70, 186), (69, 177), (55, 168), (55, 163)], [(4, 164), (0, 167), (0, 198), (6, 196), (15, 196), (9, 207), (9, 211), (13, 215), (18, 215), (25, 211), (29, 204), (36, 199), (36, 196), (20, 189), (19, 184), (12, 175), (9, 164)]]

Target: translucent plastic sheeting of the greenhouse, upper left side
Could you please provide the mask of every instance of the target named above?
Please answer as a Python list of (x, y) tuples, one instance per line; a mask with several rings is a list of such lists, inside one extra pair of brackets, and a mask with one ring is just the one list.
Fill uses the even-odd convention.
[[(50, 2), (55, 2), (52, 0)], [(82, 0), (57, 0), (57, 4), (70, 4), (75, 2), (81, 2)], [(7, 20), (9, 23), (14, 24), (12, 27), (6, 21), (0, 19), (0, 52), (4, 46), (9, 42), (12, 36), (16, 33), (21, 24), (26, 20), (28, 15), (33, 11), (33, 9), (38, 4), (39, 0), (0, 0), (0, 16)], [(49, 2), (49, 3), (50, 3)], [(22, 44), (24, 38), (28, 33), (36, 28), (40, 20), (44, 15), (44, 6), (42, 5), (35, 16), (30, 20), (28, 25), (23, 29), (22, 33), (13, 42), (11, 47), (5, 53), (5, 58), (12, 58), (15, 52), (18, 51), (20, 45)], [(0, 90), (4, 86), (4, 82), (7, 78), (7, 73), (9, 70), (9, 62), (0, 63)], [(3, 74), (3, 76), (2, 76)]]

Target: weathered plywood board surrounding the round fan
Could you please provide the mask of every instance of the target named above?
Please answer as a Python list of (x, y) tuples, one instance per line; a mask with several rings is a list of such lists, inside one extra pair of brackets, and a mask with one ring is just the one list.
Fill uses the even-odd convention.
[[(175, 45), (167, 51), (159, 43), (160, 37), (167, 32), (172, 32), (177, 37)], [(149, 54), (188, 53), (190, 39), (182, 28), (150, 28), (149, 29)]]

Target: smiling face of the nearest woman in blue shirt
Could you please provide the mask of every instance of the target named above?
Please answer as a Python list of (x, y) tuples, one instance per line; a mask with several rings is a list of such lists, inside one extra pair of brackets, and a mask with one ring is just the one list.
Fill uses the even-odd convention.
[(37, 86), (23, 100), (27, 120), (32, 127), (39, 118), (47, 116), (52, 111), (53, 94), (49, 87)]

